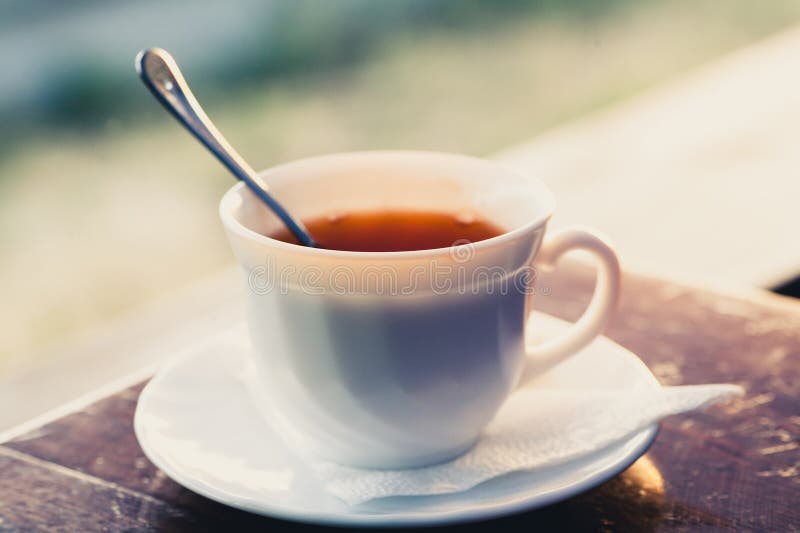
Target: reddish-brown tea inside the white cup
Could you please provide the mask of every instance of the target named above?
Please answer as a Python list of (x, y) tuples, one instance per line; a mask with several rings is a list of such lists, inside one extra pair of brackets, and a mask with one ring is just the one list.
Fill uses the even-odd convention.
[[(463, 241), (477, 242), (504, 231), (472, 215), (428, 211), (363, 211), (305, 221), (314, 239), (329, 250), (400, 252), (447, 248)], [(299, 244), (288, 229), (271, 234), (279, 241)]]

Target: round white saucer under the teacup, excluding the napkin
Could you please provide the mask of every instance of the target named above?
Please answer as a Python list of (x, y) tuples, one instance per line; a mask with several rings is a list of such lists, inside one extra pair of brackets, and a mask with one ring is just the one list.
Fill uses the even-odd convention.
[[(537, 337), (566, 327), (537, 313)], [(242, 326), (235, 335), (247, 338)], [(230, 338), (231, 332), (227, 337)], [(222, 348), (227, 346), (228, 348)], [(424, 526), (486, 519), (541, 507), (588, 490), (630, 466), (658, 425), (566, 464), (516, 472), (471, 490), (405, 496), (350, 507), (327, 493), (259, 416), (241, 381), (247, 342), (210, 342), (162, 368), (139, 398), (134, 430), (147, 457), (169, 477), (212, 500), (258, 514), (339, 526)], [(658, 382), (633, 353), (607, 338), (538, 379), (549, 388), (622, 389)]]

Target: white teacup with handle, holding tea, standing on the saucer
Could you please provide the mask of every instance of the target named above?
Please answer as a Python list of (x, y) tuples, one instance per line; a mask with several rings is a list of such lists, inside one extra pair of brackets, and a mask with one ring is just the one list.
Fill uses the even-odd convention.
[[(414, 209), (475, 214), (506, 230), (436, 250), (312, 249), (265, 237), (280, 222), (243, 184), (225, 194), (220, 215), (248, 284), (261, 397), (306, 453), (367, 468), (450, 459), (517, 386), (591, 342), (615, 307), (612, 248), (585, 229), (542, 244), (551, 193), (498, 163), (358, 152), (262, 175), (301, 219)], [(599, 264), (589, 307), (562, 338), (526, 346), (534, 258), (548, 268), (575, 249)]]

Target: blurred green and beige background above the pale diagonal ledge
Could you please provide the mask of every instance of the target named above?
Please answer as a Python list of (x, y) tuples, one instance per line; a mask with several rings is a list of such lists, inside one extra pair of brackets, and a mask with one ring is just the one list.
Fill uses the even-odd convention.
[(141, 48), (264, 168), (488, 155), (798, 20), (797, 0), (0, 3), (0, 372), (232, 262), (232, 179), (141, 86)]

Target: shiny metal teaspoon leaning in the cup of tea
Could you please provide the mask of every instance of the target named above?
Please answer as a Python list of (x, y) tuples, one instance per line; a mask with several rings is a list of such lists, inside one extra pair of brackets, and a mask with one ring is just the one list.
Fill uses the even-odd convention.
[(166, 50), (148, 48), (136, 56), (136, 72), (167, 111), (197, 137), (220, 163), (242, 180), (280, 218), (304, 246), (319, 248), (302, 222), (292, 217), (267, 191), (269, 187), (214, 126), (189, 89), (178, 64)]

